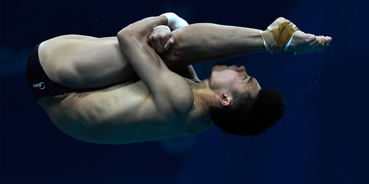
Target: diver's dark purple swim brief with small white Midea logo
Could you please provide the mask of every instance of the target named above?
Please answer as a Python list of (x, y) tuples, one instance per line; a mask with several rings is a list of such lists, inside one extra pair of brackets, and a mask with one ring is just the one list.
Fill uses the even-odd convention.
[(36, 101), (47, 95), (63, 95), (75, 91), (74, 89), (56, 84), (46, 75), (38, 58), (38, 47), (40, 44), (32, 49), (26, 66), (27, 81)]

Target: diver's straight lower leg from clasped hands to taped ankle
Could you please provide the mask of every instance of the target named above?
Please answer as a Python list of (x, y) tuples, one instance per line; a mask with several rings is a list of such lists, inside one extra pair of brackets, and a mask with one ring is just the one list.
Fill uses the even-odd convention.
[(260, 30), (216, 24), (192, 24), (172, 32), (175, 45), (166, 63), (187, 64), (265, 52)]

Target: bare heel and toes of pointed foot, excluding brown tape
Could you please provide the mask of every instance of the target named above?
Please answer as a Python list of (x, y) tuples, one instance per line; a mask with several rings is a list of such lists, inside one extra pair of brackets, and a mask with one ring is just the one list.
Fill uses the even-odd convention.
[[(270, 26), (269, 30), (279, 28), (279, 25), (283, 22), (289, 21), (283, 17), (277, 18)], [(290, 22), (290, 21), (289, 21)], [(315, 36), (312, 34), (307, 34), (302, 32), (296, 27), (292, 22), (290, 25), (296, 30), (292, 37), (292, 41), (289, 46), (287, 46), (286, 52), (292, 52), (296, 54), (307, 54), (322, 52), (324, 49), (328, 48), (332, 38), (329, 36)]]

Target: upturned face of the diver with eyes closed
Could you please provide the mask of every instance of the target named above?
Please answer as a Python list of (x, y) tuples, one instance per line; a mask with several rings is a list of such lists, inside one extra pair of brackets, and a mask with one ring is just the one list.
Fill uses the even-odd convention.
[(214, 89), (228, 92), (233, 90), (239, 92), (249, 91), (252, 96), (256, 96), (261, 89), (258, 81), (247, 75), (244, 66), (228, 66), (219, 62), (211, 67), (209, 82)]

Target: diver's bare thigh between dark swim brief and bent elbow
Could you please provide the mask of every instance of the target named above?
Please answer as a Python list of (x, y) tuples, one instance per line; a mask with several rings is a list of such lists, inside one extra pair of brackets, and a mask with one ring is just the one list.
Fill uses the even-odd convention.
[(99, 88), (136, 76), (116, 37), (59, 36), (42, 42), (38, 54), (46, 75), (69, 88)]

